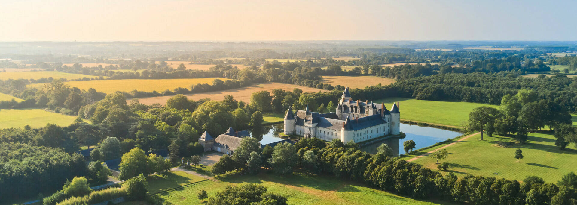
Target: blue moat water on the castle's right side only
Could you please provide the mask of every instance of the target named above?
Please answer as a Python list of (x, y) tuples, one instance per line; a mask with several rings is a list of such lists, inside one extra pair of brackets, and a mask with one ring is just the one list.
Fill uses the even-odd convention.
[(457, 131), (451, 130), (444, 130), (434, 127), (425, 127), (425, 126), (418, 126), (418, 125), (409, 125), (405, 123), (400, 124), (400, 131), (406, 134), (405, 138), (390, 138), (384, 141), (376, 142), (369, 145), (364, 145), (361, 147), (361, 150), (376, 154), (377, 147), (381, 144), (386, 143), (393, 149), (393, 153), (395, 154), (402, 154), (404, 153), (403, 150), (403, 142), (407, 140), (415, 141), (415, 149), (425, 148), (430, 145), (434, 145), (437, 142), (442, 142), (447, 140), (448, 138), (455, 138), (462, 135)]

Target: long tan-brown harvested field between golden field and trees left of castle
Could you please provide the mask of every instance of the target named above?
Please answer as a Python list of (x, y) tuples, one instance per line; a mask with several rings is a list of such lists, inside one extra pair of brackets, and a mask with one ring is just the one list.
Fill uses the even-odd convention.
[[(304, 86), (296, 86), (293, 84), (284, 84), (284, 83), (261, 83), (255, 84), (248, 87), (242, 88), (235, 88), (230, 90), (223, 90), (223, 91), (213, 91), (213, 92), (203, 92), (199, 94), (188, 94), (189, 99), (198, 100), (203, 98), (210, 98), (212, 100), (223, 100), (224, 95), (232, 95), (234, 99), (239, 101), (242, 100), (244, 102), (250, 101), (250, 94), (253, 92), (268, 90), (269, 92), (276, 88), (283, 88), (284, 90), (292, 91), (294, 88), (300, 88), (303, 92), (319, 92), (323, 91), (317, 88), (312, 87), (304, 87)], [(97, 89), (98, 90), (98, 89)], [(166, 100), (168, 98), (172, 98), (173, 96), (158, 96), (158, 97), (150, 97), (150, 98), (138, 98), (140, 103), (144, 105), (152, 105), (153, 103), (160, 103), (162, 105), (166, 104)], [(130, 102), (129, 100), (126, 100)]]

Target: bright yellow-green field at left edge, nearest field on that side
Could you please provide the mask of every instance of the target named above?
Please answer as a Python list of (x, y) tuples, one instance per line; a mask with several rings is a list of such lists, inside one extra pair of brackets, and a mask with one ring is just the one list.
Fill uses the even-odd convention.
[(42, 109), (2, 109), (0, 110), (0, 129), (9, 127), (44, 127), (47, 123), (55, 123), (59, 126), (68, 126), (76, 117), (51, 113)]

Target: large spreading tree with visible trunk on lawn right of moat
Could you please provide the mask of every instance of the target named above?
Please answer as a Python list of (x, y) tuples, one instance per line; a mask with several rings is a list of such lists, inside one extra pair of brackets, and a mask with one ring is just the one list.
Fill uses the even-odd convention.
[(472, 131), (481, 131), (481, 140), (483, 140), (483, 131), (487, 128), (487, 125), (493, 125), (497, 115), (499, 115), (499, 110), (493, 107), (477, 107), (469, 113), (467, 128)]

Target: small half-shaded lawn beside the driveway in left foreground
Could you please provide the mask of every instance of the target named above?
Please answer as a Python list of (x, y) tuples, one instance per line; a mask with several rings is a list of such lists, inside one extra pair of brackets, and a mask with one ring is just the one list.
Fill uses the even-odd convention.
[(206, 180), (204, 177), (192, 175), (186, 172), (175, 171), (147, 177), (148, 193), (154, 194), (159, 191), (180, 187), (185, 184)]

